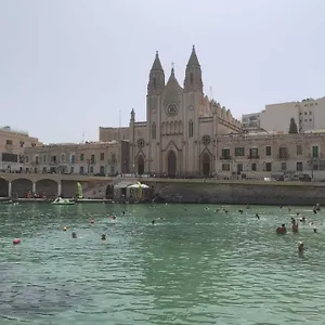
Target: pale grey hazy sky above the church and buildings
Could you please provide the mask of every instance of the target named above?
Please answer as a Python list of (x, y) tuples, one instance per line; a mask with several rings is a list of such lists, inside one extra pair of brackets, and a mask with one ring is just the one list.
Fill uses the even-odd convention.
[(195, 44), (205, 92), (234, 116), (325, 95), (324, 0), (0, 0), (1, 125), (43, 142), (145, 119), (159, 51), (182, 84)]

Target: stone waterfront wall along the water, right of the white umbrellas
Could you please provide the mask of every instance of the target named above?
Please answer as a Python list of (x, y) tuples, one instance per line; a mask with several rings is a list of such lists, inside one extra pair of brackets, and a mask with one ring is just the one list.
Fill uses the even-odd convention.
[(159, 200), (251, 205), (325, 205), (325, 183), (147, 181)]

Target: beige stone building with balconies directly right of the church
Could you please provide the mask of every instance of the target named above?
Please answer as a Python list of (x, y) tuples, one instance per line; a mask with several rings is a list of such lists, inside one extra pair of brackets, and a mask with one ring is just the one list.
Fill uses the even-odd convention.
[(222, 135), (218, 136), (217, 156), (220, 178), (309, 174), (325, 179), (325, 133)]

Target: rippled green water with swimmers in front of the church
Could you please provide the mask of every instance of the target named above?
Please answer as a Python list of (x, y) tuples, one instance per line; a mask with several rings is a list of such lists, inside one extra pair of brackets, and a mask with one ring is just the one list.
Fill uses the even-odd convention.
[(0, 324), (325, 324), (325, 210), (209, 207), (0, 205)]

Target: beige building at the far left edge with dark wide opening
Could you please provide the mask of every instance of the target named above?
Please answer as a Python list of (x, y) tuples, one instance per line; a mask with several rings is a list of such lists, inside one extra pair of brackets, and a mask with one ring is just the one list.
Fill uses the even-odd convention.
[(39, 144), (37, 138), (29, 136), (25, 131), (10, 127), (0, 128), (0, 170), (2, 172), (23, 171), (25, 148)]

